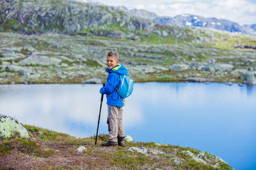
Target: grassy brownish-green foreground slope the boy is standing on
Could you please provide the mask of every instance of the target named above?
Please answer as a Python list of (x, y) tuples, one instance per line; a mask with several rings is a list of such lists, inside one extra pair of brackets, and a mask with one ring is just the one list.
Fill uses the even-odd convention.
[[(185, 153), (194, 155), (200, 151), (179, 146), (156, 146), (155, 143), (126, 142), (127, 147), (101, 147), (107, 135), (99, 135), (94, 145), (94, 137), (75, 138), (67, 134), (35, 126), (24, 126), (30, 139), (19, 138), (14, 133), (10, 138), (0, 139), (0, 167), (2, 169), (232, 169), (206, 152), (205, 160), (214, 168), (198, 163)], [(17, 138), (18, 137), (18, 138)], [(79, 153), (75, 149), (86, 147)], [(149, 152), (144, 155), (128, 151), (129, 147), (141, 146)], [(155, 153), (158, 152), (158, 153)], [(180, 163), (177, 163), (180, 162)]]

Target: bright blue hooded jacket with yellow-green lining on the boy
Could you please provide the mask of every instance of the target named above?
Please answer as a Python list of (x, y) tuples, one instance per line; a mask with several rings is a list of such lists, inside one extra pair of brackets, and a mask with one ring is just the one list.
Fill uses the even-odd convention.
[(112, 69), (106, 68), (109, 73), (105, 87), (101, 87), (100, 93), (105, 94), (108, 105), (114, 105), (117, 107), (123, 107), (123, 97), (117, 94), (115, 87), (118, 88), (121, 80), (119, 74), (127, 75), (127, 69), (123, 65), (117, 65)]

